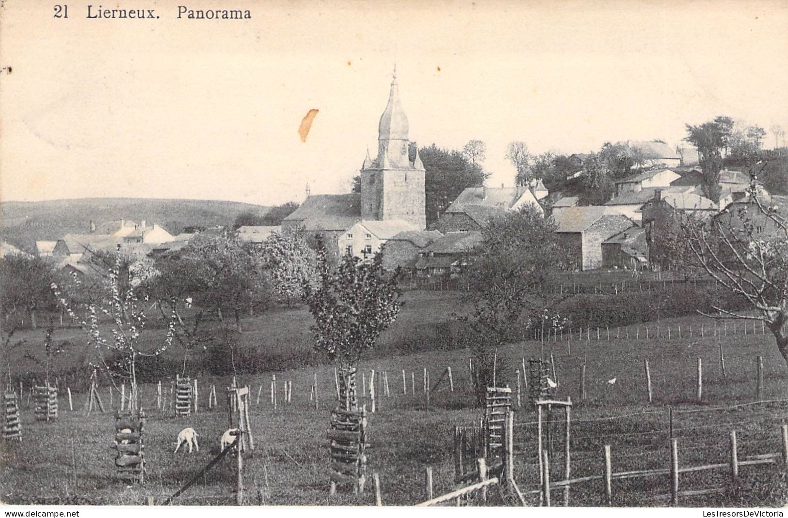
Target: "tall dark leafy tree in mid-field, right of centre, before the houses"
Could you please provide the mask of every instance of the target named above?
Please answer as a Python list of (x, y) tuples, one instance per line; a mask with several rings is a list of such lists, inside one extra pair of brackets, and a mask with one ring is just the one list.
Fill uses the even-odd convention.
[(482, 230), (481, 243), (470, 253), (467, 275), (473, 354), (478, 368), (477, 394), (502, 379), (495, 351), (518, 326), (541, 320), (554, 305), (548, 295), (551, 274), (566, 266), (556, 224), (530, 205), (493, 218)]

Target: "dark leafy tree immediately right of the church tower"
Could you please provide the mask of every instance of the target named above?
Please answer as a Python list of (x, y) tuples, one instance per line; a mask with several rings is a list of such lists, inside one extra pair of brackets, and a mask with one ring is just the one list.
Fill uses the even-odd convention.
[(445, 150), (435, 144), (418, 150), (425, 173), (425, 209), (427, 226), (448, 209), (448, 205), (466, 187), (481, 187), (489, 176), (457, 150)]

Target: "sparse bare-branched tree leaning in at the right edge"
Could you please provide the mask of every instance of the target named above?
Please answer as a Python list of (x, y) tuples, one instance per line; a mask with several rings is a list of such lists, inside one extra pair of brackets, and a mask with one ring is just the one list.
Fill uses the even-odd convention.
[(749, 168), (751, 203), (727, 209), (707, 224), (683, 224), (682, 231), (697, 265), (750, 310), (712, 305), (719, 315), (708, 316), (764, 322), (788, 362), (788, 218), (785, 207), (761, 200), (755, 172)]

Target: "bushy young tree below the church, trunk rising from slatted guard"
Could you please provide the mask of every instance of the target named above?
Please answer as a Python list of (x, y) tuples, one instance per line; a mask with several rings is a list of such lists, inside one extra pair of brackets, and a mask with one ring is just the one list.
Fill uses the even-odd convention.
[(315, 324), (315, 350), (326, 353), (341, 373), (340, 390), (345, 409), (357, 407), (355, 373), (365, 350), (400, 312), (396, 273), (383, 269), (382, 254), (371, 261), (344, 257), (338, 268), (327, 261), (325, 246), (318, 246), (318, 282), (306, 283), (303, 300)]

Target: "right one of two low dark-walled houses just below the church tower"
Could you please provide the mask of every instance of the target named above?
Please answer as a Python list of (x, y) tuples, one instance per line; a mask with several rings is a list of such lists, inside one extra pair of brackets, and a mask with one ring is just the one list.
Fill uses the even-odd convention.
[(466, 266), (467, 255), (481, 243), (481, 232), (449, 232), (429, 243), (418, 254), (418, 276), (458, 276)]

